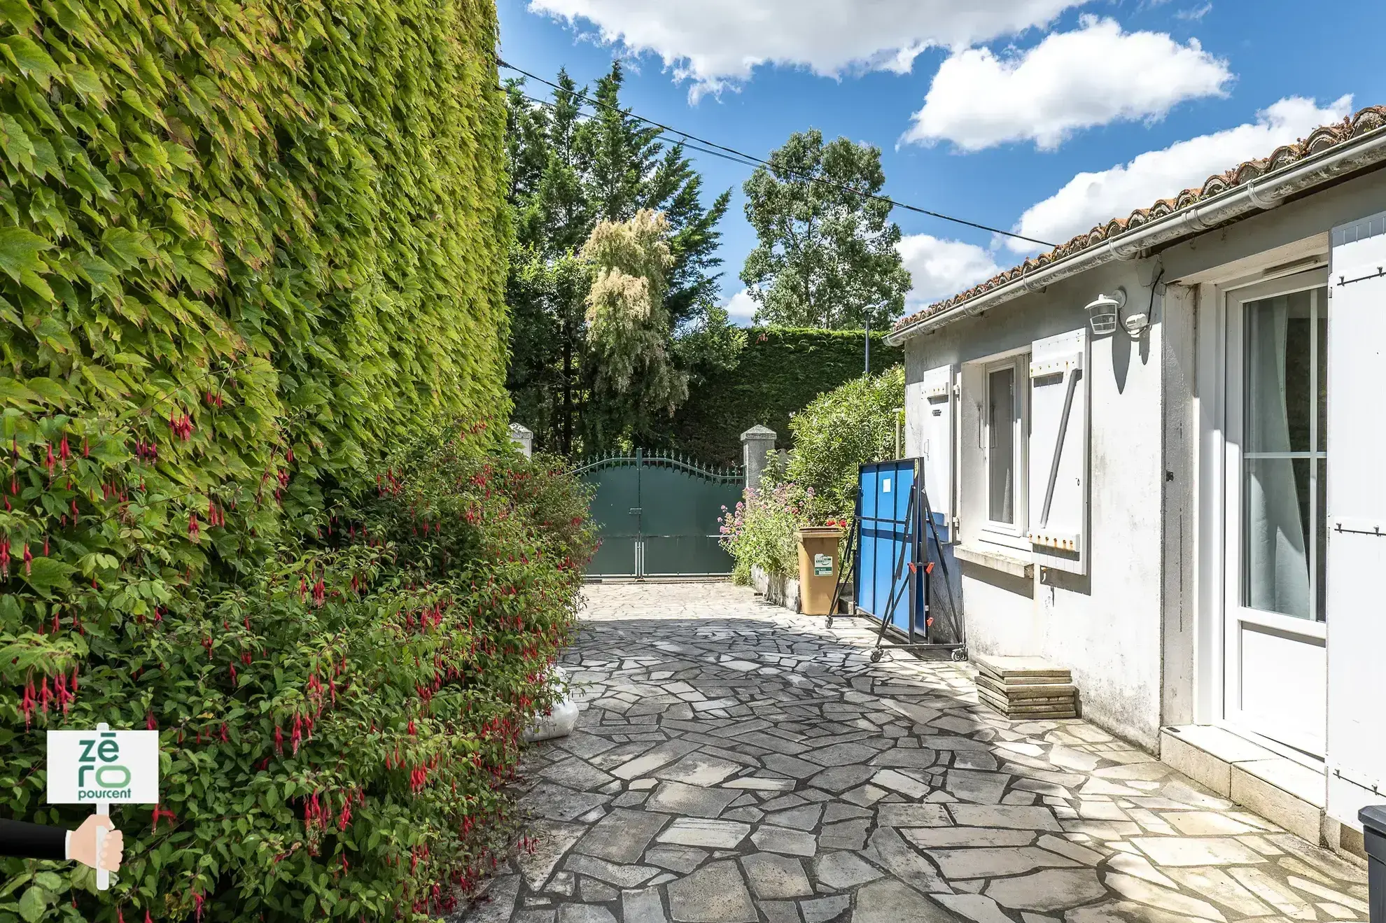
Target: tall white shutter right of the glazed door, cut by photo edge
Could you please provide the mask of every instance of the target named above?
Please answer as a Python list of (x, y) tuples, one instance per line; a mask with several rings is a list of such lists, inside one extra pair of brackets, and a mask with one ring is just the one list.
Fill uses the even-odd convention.
[(1333, 229), (1328, 281), (1328, 814), (1386, 801), (1386, 213)]

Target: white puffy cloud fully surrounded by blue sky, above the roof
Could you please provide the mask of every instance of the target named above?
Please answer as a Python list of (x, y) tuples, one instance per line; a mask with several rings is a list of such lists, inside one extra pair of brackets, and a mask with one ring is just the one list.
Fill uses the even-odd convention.
[(955, 51), (938, 68), (902, 140), (979, 151), (1009, 141), (1055, 148), (1081, 129), (1159, 119), (1185, 100), (1224, 96), (1227, 61), (1161, 32), (1123, 32), (1085, 15), (1024, 51)]

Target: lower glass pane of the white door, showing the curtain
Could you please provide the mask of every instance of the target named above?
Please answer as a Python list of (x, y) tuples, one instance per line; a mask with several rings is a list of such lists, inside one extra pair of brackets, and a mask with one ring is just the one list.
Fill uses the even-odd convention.
[(1308, 459), (1247, 459), (1242, 493), (1243, 604), (1313, 618)]

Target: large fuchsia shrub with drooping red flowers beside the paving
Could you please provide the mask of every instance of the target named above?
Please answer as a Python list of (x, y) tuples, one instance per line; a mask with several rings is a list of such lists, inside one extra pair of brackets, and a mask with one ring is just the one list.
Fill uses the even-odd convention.
[[(90, 650), (73, 698), (54, 693), (24, 714), (35, 740), (8, 754), (8, 808), (75, 825), (80, 811), (43, 809), (42, 789), (21, 782), (43, 775), (40, 729), (101, 719), (161, 730), (162, 802), (112, 807), (128, 836), (112, 901), (86, 895), (85, 868), (10, 859), (0, 913), (230, 922), (450, 909), (455, 886), (513, 847), (500, 783), (520, 733), (559, 693), (547, 668), (595, 549), (586, 493), (556, 460), (485, 448), (419, 452), (383, 474), (377, 496), (334, 507), (320, 542), (286, 549), (240, 586), (183, 588), (119, 632), (101, 621), (71, 631), (55, 604), (46, 639)], [(7, 649), (33, 683), (46, 639)], [(42, 912), (69, 888), (73, 905)]]

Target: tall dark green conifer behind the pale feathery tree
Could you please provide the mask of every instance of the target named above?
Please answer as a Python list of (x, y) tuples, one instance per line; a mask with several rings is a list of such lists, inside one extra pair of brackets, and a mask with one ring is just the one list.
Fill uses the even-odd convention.
[[(703, 177), (682, 144), (667, 143), (660, 129), (621, 105), (620, 64), (590, 93), (563, 71), (554, 83), (560, 89), (546, 103), (528, 98), (523, 80), (506, 87), (517, 237), (507, 287), (507, 385), (517, 419), (535, 431), (538, 445), (571, 455), (610, 445), (593, 439), (653, 438), (654, 416), (646, 410), (657, 407), (657, 402), (643, 407), (625, 399), (602, 406), (610, 392), (596, 388), (600, 370), (589, 351), (582, 290), (590, 280), (571, 265), (575, 254), (599, 222), (628, 222), (642, 209), (664, 213), (672, 262), (664, 274), (668, 324), (663, 345), (675, 366), (686, 367), (701, 344), (721, 342), (707, 335), (708, 328), (726, 326), (717, 308), (721, 259), (715, 252), (730, 190), (704, 204)], [(699, 338), (689, 348), (674, 342), (692, 331)], [(585, 425), (588, 414), (602, 425)]]

